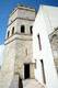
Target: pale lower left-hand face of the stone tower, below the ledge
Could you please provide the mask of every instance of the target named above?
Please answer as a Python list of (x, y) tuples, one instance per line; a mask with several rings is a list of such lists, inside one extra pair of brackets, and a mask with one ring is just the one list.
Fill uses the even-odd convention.
[(1, 74), (3, 80), (10, 85), (14, 75), (14, 58), (15, 58), (15, 41), (4, 45), (3, 63)]

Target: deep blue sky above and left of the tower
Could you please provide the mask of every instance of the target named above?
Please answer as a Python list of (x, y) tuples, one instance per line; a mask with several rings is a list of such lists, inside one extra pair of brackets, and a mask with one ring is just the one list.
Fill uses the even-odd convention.
[(39, 4), (58, 7), (58, 0), (0, 0), (0, 45), (4, 44), (9, 14), (19, 2), (34, 6), (36, 10), (38, 10)]

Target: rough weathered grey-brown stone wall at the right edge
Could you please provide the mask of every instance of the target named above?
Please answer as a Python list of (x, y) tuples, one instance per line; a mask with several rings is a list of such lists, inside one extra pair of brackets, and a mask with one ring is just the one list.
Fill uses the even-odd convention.
[(53, 51), (54, 62), (58, 74), (58, 29), (49, 35), (50, 46)]

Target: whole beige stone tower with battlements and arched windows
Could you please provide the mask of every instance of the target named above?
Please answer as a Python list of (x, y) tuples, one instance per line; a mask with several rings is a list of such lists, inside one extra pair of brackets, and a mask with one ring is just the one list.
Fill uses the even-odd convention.
[(35, 16), (34, 7), (30, 8), (20, 3), (10, 13), (1, 67), (3, 80), (8, 85), (16, 73), (22, 79), (34, 78), (32, 28)]

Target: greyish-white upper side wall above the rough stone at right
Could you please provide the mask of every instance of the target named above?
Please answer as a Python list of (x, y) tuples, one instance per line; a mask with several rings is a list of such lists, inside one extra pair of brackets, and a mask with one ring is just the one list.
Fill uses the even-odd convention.
[(42, 7), (48, 35), (58, 26), (58, 7)]

